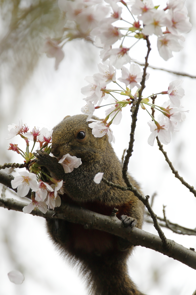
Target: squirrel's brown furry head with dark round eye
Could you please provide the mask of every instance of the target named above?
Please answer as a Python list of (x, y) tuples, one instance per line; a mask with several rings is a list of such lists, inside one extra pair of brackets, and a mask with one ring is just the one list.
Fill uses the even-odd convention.
[[(93, 116), (92, 119), (99, 120)], [(112, 149), (108, 136), (94, 137), (92, 129), (88, 126), (87, 115), (67, 116), (53, 128), (51, 153), (62, 158), (69, 153), (77, 158), (92, 159), (103, 155)]]

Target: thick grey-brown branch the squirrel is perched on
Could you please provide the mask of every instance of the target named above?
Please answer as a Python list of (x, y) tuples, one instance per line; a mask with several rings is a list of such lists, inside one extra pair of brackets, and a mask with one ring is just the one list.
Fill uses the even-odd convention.
[[(63, 204), (62, 204), (63, 205)], [(18, 202), (13, 199), (0, 199), (0, 207), (22, 211), (26, 203)], [(61, 210), (61, 211), (60, 211)], [(117, 217), (104, 216), (81, 207), (64, 204), (59, 208), (60, 212), (54, 217), (54, 211), (49, 211), (46, 214), (39, 210), (31, 212), (32, 215), (41, 216), (44, 218), (58, 218), (69, 222), (79, 223), (85, 226), (85, 229), (97, 229), (109, 232), (132, 242), (135, 246), (142, 246), (158, 251), (168, 257), (178, 260), (191, 268), (196, 269), (196, 252), (187, 249), (182, 245), (177, 244), (172, 240), (168, 240), (169, 247), (165, 248), (162, 245), (160, 237), (153, 235), (136, 227), (123, 227), (122, 222)]]

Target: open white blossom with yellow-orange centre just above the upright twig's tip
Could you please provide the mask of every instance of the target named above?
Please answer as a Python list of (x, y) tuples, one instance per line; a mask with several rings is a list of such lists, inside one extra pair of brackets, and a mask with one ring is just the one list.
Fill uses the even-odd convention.
[(155, 34), (161, 36), (161, 27), (168, 27), (169, 25), (172, 25), (172, 21), (169, 20), (167, 15), (165, 15), (165, 12), (163, 10), (156, 10), (152, 16), (145, 20), (145, 26), (144, 29), (142, 29), (142, 33), (145, 35)]

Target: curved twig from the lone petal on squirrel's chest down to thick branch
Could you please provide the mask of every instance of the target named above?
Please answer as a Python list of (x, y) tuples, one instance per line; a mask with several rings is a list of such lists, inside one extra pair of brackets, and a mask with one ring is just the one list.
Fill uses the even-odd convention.
[(102, 181), (104, 183), (106, 183), (108, 186), (112, 186), (112, 187), (115, 187), (117, 189), (121, 189), (122, 191), (132, 191), (134, 193), (134, 195), (140, 200), (142, 201), (142, 203), (146, 206), (148, 212), (150, 213), (150, 216), (152, 217), (152, 220), (154, 222), (154, 227), (155, 229), (157, 230), (161, 240), (162, 240), (162, 243), (163, 243), (163, 246), (168, 246), (168, 240), (167, 238), (165, 237), (164, 235), (164, 232), (162, 231), (162, 229), (160, 228), (160, 225), (157, 221), (157, 215), (153, 212), (151, 206), (150, 206), (150, 203), (149, 203), (149, 198), (150, 196), (143, 196), (142, 194), (140, 194), (140, 192), (131, 184), (131, 187), (127, 186), (121, 186), (119, 184), (115, 184), (115, 183), (112, 183), (110, 181), (107, 181), (107, 179), (105, 179), (104, 177), (102, 178)]

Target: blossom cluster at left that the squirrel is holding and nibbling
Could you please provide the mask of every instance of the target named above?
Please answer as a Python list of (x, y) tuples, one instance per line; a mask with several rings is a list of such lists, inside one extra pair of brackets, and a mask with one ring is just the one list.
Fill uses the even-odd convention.
[[(50, 154), (50, 144), (52, 140), (52, 131), (47, 128), (34, 127), (31, 132), (27, 124), (23, 124), (19, 119), (19, 124), (11, 124), (8, 126), (8, 137), (10, 140), (16, 135), (20, 135), (26, 143), (26, 151), (21, 150), (17, 144), (10, 143), (8, 150), (16, 151), (24, 158), (27, 171), (19, 172), (19, 176), (14, 177), (11, 181), (13, 189), (17, 188), (17, 195), (24, 197), (28, 194), (31, 188), (31, 203), (23, 208), (24, 213), (30, 213), (34, 209), (39, 209), (44, 214), (48, 209), (53, 209), (61, 205), (61, 198), (59, 194), (64, 194), (63, 180), (57, 180), (49, 175), (49, 172), (45, 172), (36, 163), (36, 153), (32, 153), (36, 142), (39, 142), (40, 150)], [(29, 150), (29, 143), (33, 141), (31, 151)], [(51, 154), (51, 156), (53, 156)], [(74, 168), (78, 168), (82, 164), (81, 159), (69, 154), (63, 155), (61, 159), (58, 159), (65, 173), (70, 173)], [(30, 173), (29, 173), (30, 172)]]

